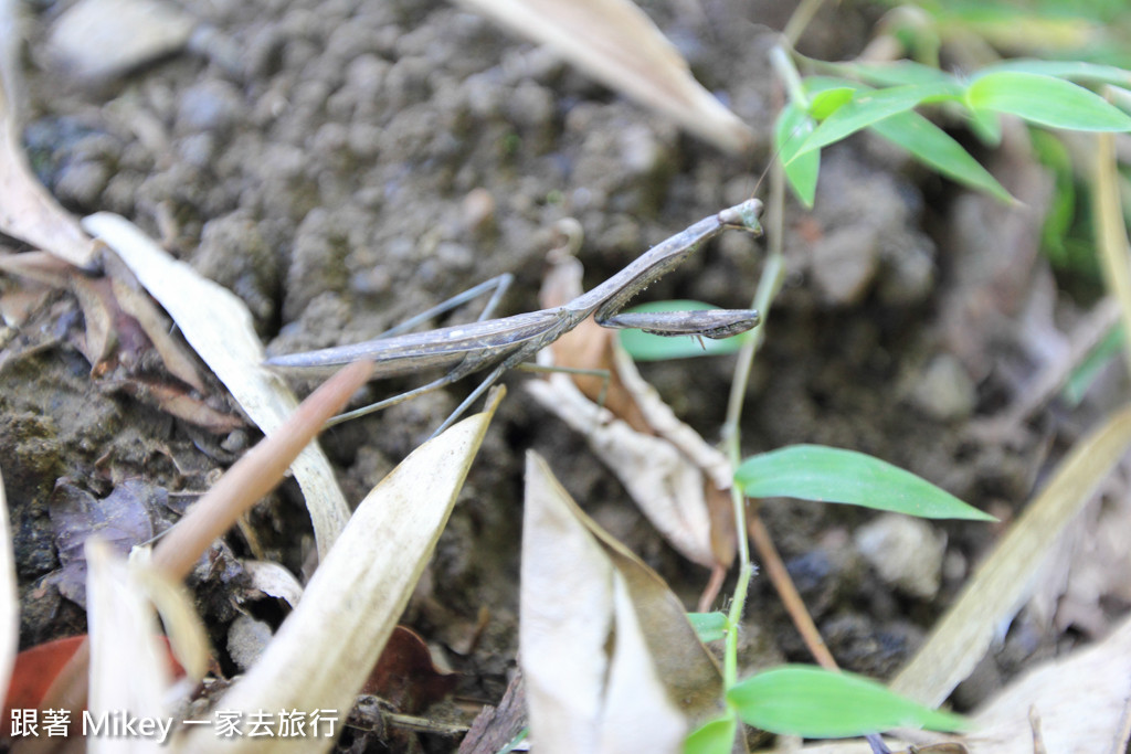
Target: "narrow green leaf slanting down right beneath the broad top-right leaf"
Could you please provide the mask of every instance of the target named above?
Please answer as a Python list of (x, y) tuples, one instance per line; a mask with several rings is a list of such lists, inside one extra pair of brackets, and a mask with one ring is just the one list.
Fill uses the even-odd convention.
[(892, 141), (916, 159), (935, 168), (953, 181), (985, 191), (1002, 201), (1013, 198), (1005, 188), (978, 164), (946, 131), (918, 113), (899, 113), (872, 125), (872, 130)]

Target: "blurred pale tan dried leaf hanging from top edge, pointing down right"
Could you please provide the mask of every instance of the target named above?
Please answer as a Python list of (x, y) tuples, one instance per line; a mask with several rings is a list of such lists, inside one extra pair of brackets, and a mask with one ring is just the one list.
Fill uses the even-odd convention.
[(687, 61), (629, 0), (459, 2), (549, 45), (724, 151), (741, 153), (753, 144), (750, 128), (694, 80)]

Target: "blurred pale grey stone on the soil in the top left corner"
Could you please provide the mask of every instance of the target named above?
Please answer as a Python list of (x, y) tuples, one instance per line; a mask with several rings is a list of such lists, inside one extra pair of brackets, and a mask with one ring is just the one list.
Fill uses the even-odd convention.
[(157, 0), (79, 0), (55, 19), (48, 49), (78, 78), (109, 78), (178, 52), (196, 27)]

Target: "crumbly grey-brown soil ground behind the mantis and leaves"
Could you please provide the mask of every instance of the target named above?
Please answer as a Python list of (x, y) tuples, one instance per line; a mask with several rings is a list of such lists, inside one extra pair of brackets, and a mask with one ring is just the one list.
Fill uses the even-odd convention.
[[(28, 18), (25, 142), (41, 180), (77, 215), (124, 215), (228, 286), (279, 353), (365, 339), (503, 271), (517, 278), (506, 312), (537, 309), (551, 228), (563, 217), (585, 229), (579, 257), (593, 285), (651, 243), (745, 199), (769, 159), (782, 98), (768, 29), (792, 10), (737, 0), (642, 3), (697, 78), (758, 133), (757, 153), (739, 158), (447, 3), (183, 2), (210, 29), (205, 42), (97, 85), (59, 70), (43, 45), (68, 5), (34, 3)], [(826, 8), (800, 49), (853, 57), (878, 12)], [(1009, 157), (993, 165), (1039, 207), (1047, 185), (1039, 173), (1034, 180)], [(1086, 419), (1043, 413), (1002, 442), (969, 430), (1062, 353), (1054, 314), (1067, 324), (1074, 318), (1035, 254), (1036, 213), (1003, 222), (1004, 211), (867, 138), (829, 149), (815, 210), (787, 207), (787, 284), (752, 379), (744, 452), (797, 442), (852, 448), (1008, 521)], [(746, 306), (762, 243), (727, 234), (647, 295)], [(124, 395), (114, 380), (92, 381), (74, 346), (81, 331), (75, 300), (55, 294), (9, 333), (0, 362), (0, 467), (16, 536), (21, 647), (84, 630), (81, 596), (60, 577), (60, 510), (97, 508), (140, 479), (138, 515), (159, 530), (256, 439), (250, 430), (209, 434)], [(649, 365), (645, 374), (714, 440), (731, 369), (716, 357)], [(527, 379), (507, 379), (508, 399), (404, 619), (464, 674), (449, 713), (465, 722), (499, 700), (515, 668), (527, 449), (552, 459), (582, 506), (689, 606), (707, 579), (663, 541), (584, 439), (520, 389)], [(416, 383), (375, 383), (369, 397)], [(469, 389), (327, 433), (347, 499), (360, 500)], [(914, 593), (862, 554), (854, 534), (874, 513), (786, 501), (763, 510), (834, 655), (881, 677), (909, 657), (1001, 530), (932, 525), (931, 537), (942, 532), (947, 543), (939, 588)], [(253, 525), (266, 554), (300, 572), (311, 535), (296, 488), (262, 503)], [(248, 552), (233, 535), (192, 582), (228, 673), (239, 669), (225, 649), (235, 616), (280, 617), (241, 590), (228, 555)], [(957, 705), (976, 703), (1076, 635), (1022, 616), (956, 694)], [(746, 643), (752, 665), (809, 660), (765, 579), (754, 584)], [(450, 746), (425, 740), (432, 751)], [(354, 746), (385, 751), (361, 734)]]

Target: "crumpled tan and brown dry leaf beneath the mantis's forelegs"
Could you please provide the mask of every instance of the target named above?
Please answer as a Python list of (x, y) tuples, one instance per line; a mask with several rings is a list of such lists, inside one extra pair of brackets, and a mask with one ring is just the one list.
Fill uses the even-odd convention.
[[(543, 306), (558, 305), (581, 289), (578, 261), (555, 255), (543, 286)], [(706, 567), (729, 565), (734, 532), (725, 493), (729, 488), (726, 458), (675, 417), (640, 376), (613, 331), (586, 320), (543, 349), (538, 362), (608, 370), (608, 410), (592, 402), (601, 392), (599, 378), (584, 378), (586, 395), (575, 384), (576, 378), (564, 374), (532, 380), (526, 387), (545, 408), (585, 435), (637, 506), (684, 557)]]

